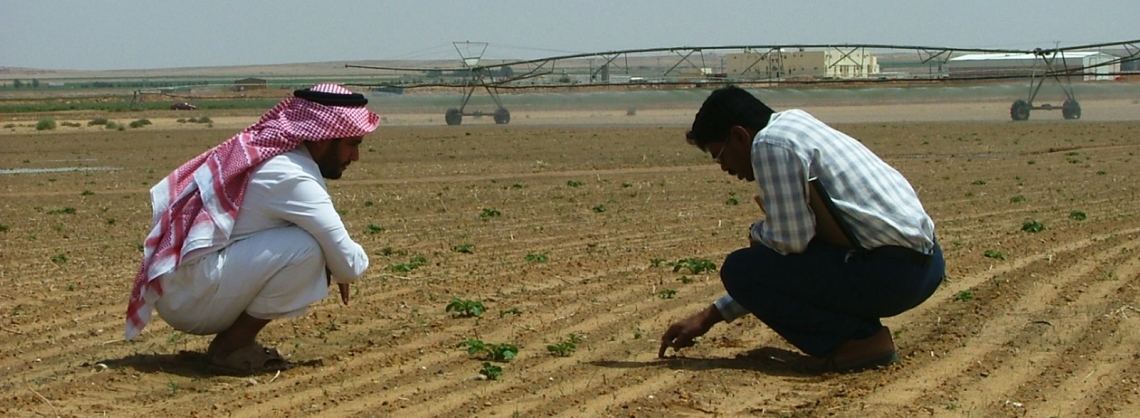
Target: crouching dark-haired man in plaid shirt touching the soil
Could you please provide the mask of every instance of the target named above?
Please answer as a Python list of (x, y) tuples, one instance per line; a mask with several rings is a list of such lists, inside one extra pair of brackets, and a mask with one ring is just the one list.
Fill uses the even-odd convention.
[(708, 97), (686, 139), (757, 182), (765, 219), (725, 259), (727, 294), (670, 326), (659, 355), (752, 313), (807, 354), (803, 371), (897, 362), (880, 318), (919, 305), (945, 274), (934, 221), (906, 179), (854, 138), (736, 87)]

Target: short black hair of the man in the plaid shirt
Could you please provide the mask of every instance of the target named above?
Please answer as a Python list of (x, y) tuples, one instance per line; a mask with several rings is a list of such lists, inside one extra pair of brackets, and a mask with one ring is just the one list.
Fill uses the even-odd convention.
[(732, 126), (744, 126), (757, 132), (767, 126), (775, 113), (744, 89), (728, 85), (712, 91), (693, 120), (693, 129), (685, 140), (706, 150), (709, 142), (724, 141)]

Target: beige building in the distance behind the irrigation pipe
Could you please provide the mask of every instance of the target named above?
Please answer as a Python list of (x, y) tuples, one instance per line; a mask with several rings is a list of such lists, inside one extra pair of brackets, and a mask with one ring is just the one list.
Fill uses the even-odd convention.
[(725, 73), (739, 79), (860, 79), (879, 73), (879, 60), (865, 48), (773, 49), (730, 54)]

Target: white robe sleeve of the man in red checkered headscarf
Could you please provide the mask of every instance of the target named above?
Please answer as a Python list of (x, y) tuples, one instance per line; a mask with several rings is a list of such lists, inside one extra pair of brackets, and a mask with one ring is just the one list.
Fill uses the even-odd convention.
[(298, 177), (274, 187), (268, 208), (317, 239), (336, 282), (352, 282), (368, 269), (368, 254), (349, 237), (328, 191), (316, 179)]

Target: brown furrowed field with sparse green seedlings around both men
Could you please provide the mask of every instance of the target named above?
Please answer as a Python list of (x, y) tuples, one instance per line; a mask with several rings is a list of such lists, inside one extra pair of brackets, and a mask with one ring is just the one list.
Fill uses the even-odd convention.
[(808, 108), (912, 182), (947, 264), (885, 319), (901, 364), (823, 376), (755, 318), (657, 358), (760, 215), (754, 185), (685, 144), (695, 107), (385, 113), (329, 182), (369, 271), (348, 305), (270, 323), (299, 367), (252, 377), (211, 375), (210, 337), (161, 319), (122, 336), (148, 188), (255, 116), (26, 116), (0, 130), (0, 416), (1140, 416), (1140, 106), (1018, 123), (1005, 101), (939, 106)]

